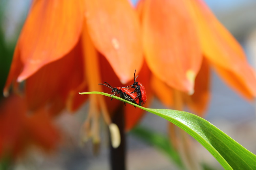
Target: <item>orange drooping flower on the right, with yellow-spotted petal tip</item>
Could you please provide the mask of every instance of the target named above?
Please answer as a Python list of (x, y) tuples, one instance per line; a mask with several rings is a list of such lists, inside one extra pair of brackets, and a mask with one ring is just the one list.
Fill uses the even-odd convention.
[[(209, 98), (209, 67), (245, 98), (256, 96), (255, 73), (241, 46), (203, 1), (143, 0), (138, 12), (151, 84), (167, 106), (188, 104), (202, 115)], [(177, 97), (173, 89), (185, 94)]]

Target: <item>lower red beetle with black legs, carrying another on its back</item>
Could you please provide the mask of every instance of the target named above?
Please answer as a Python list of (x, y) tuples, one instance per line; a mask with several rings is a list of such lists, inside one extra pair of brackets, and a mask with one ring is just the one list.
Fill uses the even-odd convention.
[[(129, 89), (127, 89), (126, 87), (112, 87), (110, 84), (108, 84), (107, 82), (104, 82), (104, 83), (106, 83), (106, 84), (102, 84), (102, 83), (100, 83), (101, 85), (104, 85), (104, 86), (107, 86), (107, 87), (109, 87), (109, 88), (111, 88), (112, 89), (112, 95), (110, 95), (110, 96), (113, 96), (113, 95), (115, 95), (115, 94), (120, 94), (120, 97), (121, 98), (123, 98), (123, 99), (125, 99), (125, 100), (128, 100), (128, 101), (130, 101), (130, 102), (133, 102), (133, 103), (135, 103), (135, 104), (139, 104), (139, 98), (137, 98), (138, 96), (135, 94), (135, 93), (133, 93), (131, 90), (129, 90)], [(113, 98), (112, 98), (113, 99)], [(112, 100), (111, 99), (111, 100)], [(125, 105), (125, 103), (124, 103), (124, 105)], [(140, 105), (140, 104), (139, 104)]]

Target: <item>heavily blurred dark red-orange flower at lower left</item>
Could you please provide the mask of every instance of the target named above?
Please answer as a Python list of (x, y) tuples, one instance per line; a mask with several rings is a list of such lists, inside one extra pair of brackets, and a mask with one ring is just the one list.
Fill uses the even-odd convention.
[(10, 96), (0, 106), (0, 158), (16, 157), (30, 145), (45, 150), (56, 148), (59, 134), (50, 117), (42, 110), (29, 115), (25, 101)]

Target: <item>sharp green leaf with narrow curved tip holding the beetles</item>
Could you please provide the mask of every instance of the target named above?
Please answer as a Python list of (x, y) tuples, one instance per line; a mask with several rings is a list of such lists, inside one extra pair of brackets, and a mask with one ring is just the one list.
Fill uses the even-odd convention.
[[(97, 91), (79, 94), (101, 94), (110, 96), (110, 94)], [(111, 97), (163, 117), (182, 128), (201, 143), (225, 169), (256, 169), (256, 155), (241, 146), (210, 122), (197, 115), (177, 110), (144, 108), (120, 97)]]

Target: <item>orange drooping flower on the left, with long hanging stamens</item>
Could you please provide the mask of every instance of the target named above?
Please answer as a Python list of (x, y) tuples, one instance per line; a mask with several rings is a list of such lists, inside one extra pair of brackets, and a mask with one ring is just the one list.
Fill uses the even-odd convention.
[[(134, 69), (139, 72), (143, 65), (140, 36), (136, 11), (126, 0), (111, 4), (106, 0), (34, 1), (16, 45), (4, 94), (8, 96), (13, 82), (14, 91), (24, 93), (30, 112), (43, 108), (50, 116), (65, 108), (75, 111), (89, 97), (85, 127), (87, 135), (98, 142), (100, 113), (110, 124), (109, 115), (123, 103), (78, 92), (103, 91), (98, 85), (103, 81), (113, 86), (120, 86), (120, 81), (131, 84)], [(145, 64), (143, 72), (140, 81), (146, 80), (146, 86), (150, 72)], [(131, 128), (142, 111), (125, 108), (126, 127)]]

